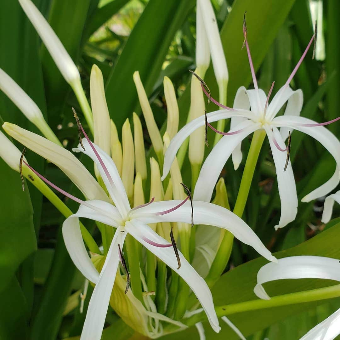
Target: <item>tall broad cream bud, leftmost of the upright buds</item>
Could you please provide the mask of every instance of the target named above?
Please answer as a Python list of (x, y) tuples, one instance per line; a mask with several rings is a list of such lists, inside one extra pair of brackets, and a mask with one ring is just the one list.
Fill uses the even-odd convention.
[(92, 66), (90, 94), (95, 129), (95, 144), (108, 155), (111, 154), (111, 124), (108, 112), (103, 74), (97, 65)]

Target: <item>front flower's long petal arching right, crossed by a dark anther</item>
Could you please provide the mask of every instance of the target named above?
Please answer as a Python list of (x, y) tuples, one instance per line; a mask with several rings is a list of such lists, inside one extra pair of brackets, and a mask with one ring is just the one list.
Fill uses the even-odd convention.
[[(156, 215), (157, 212), (169, 210), (182, 201), (154, 202), (146, 207), (133, 212), (132, 218), (144, 223), (157, 222), (184, 222), (191, 223), (191, 205), (185, 202), (181, 207), (165, 215)], [(194, 224), (214, 225), (231, 232), (237, 239), (245, 244), (251, 245), (260, 255), (269, 261), (276, 261), (270, 251), (263, 245), (254, 231), (241, 218), (230, 210), (219, 205), (193, 201)]]

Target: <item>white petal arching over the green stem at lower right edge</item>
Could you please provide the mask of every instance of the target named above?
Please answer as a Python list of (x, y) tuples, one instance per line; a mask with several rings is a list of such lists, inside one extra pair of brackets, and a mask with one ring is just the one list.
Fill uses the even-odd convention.
[(340, 281), (339, 260), (323, 256), (290, 256), (267, 263), (257, 273), (254, 293), (264, 300), (270, 297), (262, 287), (263, 283), (288, 278), (324, 278)]

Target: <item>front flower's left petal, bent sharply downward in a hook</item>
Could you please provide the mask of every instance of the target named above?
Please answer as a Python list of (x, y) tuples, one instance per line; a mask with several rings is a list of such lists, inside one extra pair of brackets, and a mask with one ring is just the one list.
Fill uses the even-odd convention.
[(80, 205), (77, 213), (71, 215), (64, 221), (62, 232), (66, 249), (70, 254), (74, 265), (89, 281), (97, 283), (99, 273), (94, 267), (86, 251), (82, 234), (80, 232), (79, 217), (85, 217), (91, 220), (111, 225), (113, 227), (117, 227), (120, 215), (117, 208), (107, 202), (99, 200), (86, 202), (98, 207), (103, 211), (106, 211), (107, 215), (111, 215), (112, 218), (109, 218), (108, 216), (105, 216), (98, 211), (92, 210), (89, 207)]

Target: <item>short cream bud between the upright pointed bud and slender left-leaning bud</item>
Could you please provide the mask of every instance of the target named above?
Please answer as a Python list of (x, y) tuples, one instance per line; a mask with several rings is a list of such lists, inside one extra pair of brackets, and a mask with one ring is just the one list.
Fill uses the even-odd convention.
[(133, 113), (133, 140), (135, 142), (135, 166), (136, 173), (139, 172), (142, 180), (146, 180), (147, 174), (147, 160), (145, 158), (144, 136), (142, 124), (136, 113)]

